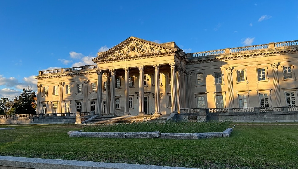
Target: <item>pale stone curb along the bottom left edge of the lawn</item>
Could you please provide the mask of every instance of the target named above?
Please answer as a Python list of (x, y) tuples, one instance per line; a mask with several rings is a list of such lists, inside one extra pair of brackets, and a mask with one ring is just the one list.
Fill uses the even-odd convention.
[(0, 156), (0, 168), (13, 167), (27, 169), (186, 169), (185, 167)]

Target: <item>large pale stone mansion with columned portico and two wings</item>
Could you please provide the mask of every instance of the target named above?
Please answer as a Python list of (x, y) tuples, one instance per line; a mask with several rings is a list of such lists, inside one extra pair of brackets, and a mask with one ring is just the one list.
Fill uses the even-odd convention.
[(39, 71), (36, 113), (298, 106), (298, 40), (185, 53), (175, 42), (129, 37), (92, 61)]

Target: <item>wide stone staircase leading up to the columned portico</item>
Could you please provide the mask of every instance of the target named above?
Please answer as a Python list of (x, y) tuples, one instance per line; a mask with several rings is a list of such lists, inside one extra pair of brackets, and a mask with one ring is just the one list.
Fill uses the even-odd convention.
[(117, 124), (133, 122), (164, 123), (169, 115), (97, 116), (88, 124)]

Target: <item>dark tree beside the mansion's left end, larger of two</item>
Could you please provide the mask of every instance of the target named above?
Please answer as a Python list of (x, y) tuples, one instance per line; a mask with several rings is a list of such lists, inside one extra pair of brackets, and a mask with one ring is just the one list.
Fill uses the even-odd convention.
[(36, 94), (32, 91), (31, 86), (24, 88), (20, 96), (14, 98), (12, 114), (35, 114)]

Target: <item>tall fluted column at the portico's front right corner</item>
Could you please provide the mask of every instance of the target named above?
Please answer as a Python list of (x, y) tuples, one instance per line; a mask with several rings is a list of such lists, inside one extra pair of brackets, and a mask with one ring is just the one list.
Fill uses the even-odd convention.
[(177, 95), (176, 95), (176, 62), (169, 63), (171, 67), (171, 97), (172, 97), (172, 113), (177, 113)]

